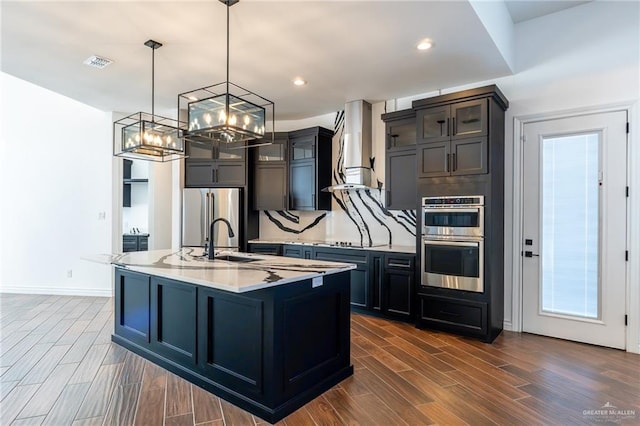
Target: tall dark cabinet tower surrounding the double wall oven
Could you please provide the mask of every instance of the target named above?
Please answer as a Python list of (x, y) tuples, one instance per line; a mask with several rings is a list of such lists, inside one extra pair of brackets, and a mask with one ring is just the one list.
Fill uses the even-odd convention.
[[(483, 291), (422, 286), (416, 274), (416, 325), (491, 342), (504, 322), (504, 126), (509, 102), (490, 85), (416, 100), (412, 106), (417, 113), (418, 197), (485, 199)], [(417, 229), (421, 221), (419, 215)]]

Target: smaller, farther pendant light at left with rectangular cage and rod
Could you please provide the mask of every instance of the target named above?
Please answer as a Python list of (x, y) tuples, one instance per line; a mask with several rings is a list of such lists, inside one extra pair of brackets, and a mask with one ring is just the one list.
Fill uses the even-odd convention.
[(114, 155), (137, 160), (171, 161), (184, 158), (183, 130), (174, 119), (155, 114), (155, 51), (162, 43), (147, 40), (151, 48), (151, 114), (137, 112), (113, 123)]

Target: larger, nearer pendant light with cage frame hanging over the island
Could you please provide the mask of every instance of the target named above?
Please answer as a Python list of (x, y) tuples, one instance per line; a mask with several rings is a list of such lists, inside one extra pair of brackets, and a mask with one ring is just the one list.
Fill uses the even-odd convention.
[(227, 9), (227, 80), (178, 95), (178, 111), (187, 113), (185, 139), (229, 148), (269, 145), (274, 132), (273, 102), (229, 81), (229, 9), (239, 0), (219, 1)]

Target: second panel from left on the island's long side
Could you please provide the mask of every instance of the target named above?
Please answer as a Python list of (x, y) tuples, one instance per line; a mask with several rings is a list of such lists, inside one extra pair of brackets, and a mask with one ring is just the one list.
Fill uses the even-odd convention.
[(151, 347), (181, 365), (196, 365), (196, 287), (151, 278)]

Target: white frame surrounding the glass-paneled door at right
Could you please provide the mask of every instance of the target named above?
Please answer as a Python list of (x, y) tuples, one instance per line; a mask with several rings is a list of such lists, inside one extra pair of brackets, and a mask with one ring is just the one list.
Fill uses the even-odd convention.
[[(514, 116), (513, 118), (513, 191), (512, 211), (505, 212), (512, 218), (512, 251), (511, 271), (505, 271), (505, 277), (511, 277), (513, 283), (511, 294), (512, 317), (508, 329), (522, 332), (522, 262), (521, 241), (523, 241), (523, 137), (524, 126), (538, 121), (570, 118), (588, 114), (625, 111), (630, 125), (627, 137), (627, 186), (629, 199), (627, 202), (627, 250), (629, 261), (626, 262), (626, 311), (628, 315), (626, 329), (626, 351), (640, 353), (640, 108), (638, 102), (610, 104), (592, 108), (547, 112), (532, 115)], [(508, 245), (507, 245), (508, 247)]]

